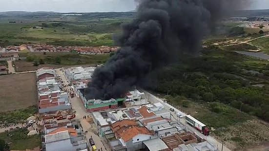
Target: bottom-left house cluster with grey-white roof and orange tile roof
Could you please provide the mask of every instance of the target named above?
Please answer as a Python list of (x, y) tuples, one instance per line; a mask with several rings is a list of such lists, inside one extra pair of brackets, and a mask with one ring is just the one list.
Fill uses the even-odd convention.
[(42, 130), (43, 151), (87, 151), (87, 141), (76, 122), (45, 124)]

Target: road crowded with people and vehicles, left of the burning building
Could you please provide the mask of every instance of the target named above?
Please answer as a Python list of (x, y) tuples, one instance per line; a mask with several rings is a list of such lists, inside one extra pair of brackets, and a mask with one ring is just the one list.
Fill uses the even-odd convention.
[[(56, 70), (56, 73), (58, 75), (61, 75), (63, 84), (68, 85), (67, 78), (65, 78), (65, 75), (60, 70), (60, 68), (55, 69), (55, 70)], [(68, 86), (68, 88), (71, 88), (71, 87)], [(70, 100), (71, 100), (70, 103), (71, 103), (72, 109), (76, 111), (75, 120), (80, 121), (82, 128), (83, 128), (83, 131), (88, 130), (88, 132), (86, 134), (84, 134), (86, 139), (87, 139), (88, 144), (89, 144), (89, 138), (92, 137), (93, 141), (95, 142), (95, 145), (97, 147), (97, 151), (98, 151), (98, 149), (100, 149), (100, 151), (101, 151), (101, 148), (103, 151), (109, 151), (109, 150), (106, 150), (106, 149), (109, 149), (109, 146), (105, 143), (103, 144), (104, 140), (97, 135), (98, 132), (97, 131), (96, 131), (96, 133), (91, 132), (93, 125), (91, 125), (85, 119), (83, 119), (84, 115), (88, 116), (90, 114), (86, 112), (81, 99), (77, 98), (77, 97), (73, 97)]]

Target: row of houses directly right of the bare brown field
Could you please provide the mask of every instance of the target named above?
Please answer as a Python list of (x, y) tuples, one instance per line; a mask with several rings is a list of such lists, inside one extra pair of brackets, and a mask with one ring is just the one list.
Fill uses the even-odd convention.
[(39, 112), (54, 112), (70, 109), (67, 92), (62, 91), (53, 68), (42, 67), (36, 72), (38, 87)]

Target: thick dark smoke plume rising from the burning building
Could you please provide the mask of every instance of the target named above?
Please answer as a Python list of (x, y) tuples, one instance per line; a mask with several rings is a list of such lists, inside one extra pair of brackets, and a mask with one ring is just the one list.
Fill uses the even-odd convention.
[(121, 48), (95, 70), (86, 98), (121, 97), (132, 86), (141, 86), (151, 71), (169, 64), (178, 52), (197, 52), (212, 25), (243, 1), (139, 0), (136, 18), (123, 24), (115, 39)]

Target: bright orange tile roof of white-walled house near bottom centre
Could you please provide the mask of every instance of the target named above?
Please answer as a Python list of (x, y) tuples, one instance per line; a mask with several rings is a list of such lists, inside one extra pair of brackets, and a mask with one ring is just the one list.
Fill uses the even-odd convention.
[(121, 138), (127, 142), (138, 134), (151, 135), (151, 132), (145, 127), (132, 126), (120, 133)]

